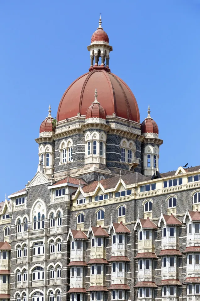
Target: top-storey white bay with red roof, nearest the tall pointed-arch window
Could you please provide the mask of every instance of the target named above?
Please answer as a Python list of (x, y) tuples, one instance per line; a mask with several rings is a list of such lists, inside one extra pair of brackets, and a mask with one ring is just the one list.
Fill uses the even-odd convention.
[(85, 261), (85, 241), (87, 236), (81, 230), (69, 229), (67, 240), (70, 241), (70, 262)]

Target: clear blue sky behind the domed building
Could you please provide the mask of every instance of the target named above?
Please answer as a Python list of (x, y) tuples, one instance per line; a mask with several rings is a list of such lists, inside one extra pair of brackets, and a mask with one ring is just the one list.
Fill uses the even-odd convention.
[(159, 126), (160, 172), (200, 165), (200, 1), (1, 0), (0, 201), (34, 177), (40, 124), (88, 71), (100, 13), (111, 71), (132, 89), (141, 122), (150, 104)]

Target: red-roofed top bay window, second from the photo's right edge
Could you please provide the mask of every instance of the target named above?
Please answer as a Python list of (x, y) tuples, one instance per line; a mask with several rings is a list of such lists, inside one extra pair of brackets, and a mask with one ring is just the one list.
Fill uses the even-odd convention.
[(182, 223), (173, 214), (162, 214), (159, 219), (158, 227), (162, 231), (162, 250), (165, 249), (178, 249), (178, 227)]

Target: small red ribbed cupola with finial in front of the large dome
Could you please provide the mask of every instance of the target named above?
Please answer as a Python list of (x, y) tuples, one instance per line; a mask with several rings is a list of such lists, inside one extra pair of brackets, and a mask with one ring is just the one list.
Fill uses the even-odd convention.
[[(105, 123), (105, 111), (104, 108), (97, 101), (97, 90), (95, 89), (95, 101), (89, 106), (85, 114), (85, 122), (104, 122)], [(103, 119), (103, 120), (102, 120)]]

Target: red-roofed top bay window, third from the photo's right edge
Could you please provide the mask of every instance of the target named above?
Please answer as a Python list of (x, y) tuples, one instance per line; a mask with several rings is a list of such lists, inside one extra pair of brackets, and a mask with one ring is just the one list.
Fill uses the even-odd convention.
[(154, 230), (157, 230), (157, 226), (149, 217), (140, 219), (138, 214), (134, 230), (138, 231), (138, 253), (154, 253)]

